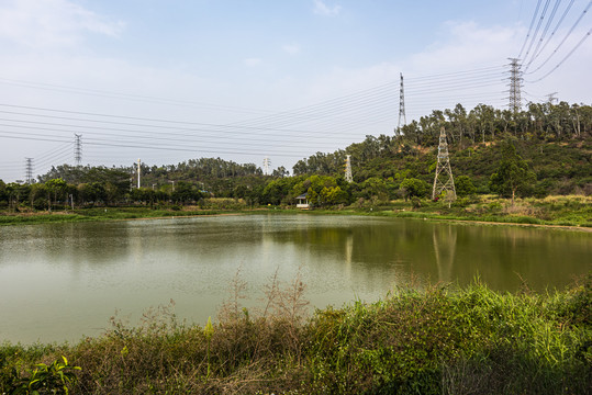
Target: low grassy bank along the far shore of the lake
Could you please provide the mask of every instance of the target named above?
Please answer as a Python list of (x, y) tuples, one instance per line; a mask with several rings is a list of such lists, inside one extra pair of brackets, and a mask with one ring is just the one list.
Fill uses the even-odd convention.
[[(0, 212), (1, 225), (40, 224), (55, 222), (118, 221), (135, 218), (170, 218), (180, 216), (216, 215), (228, 213), (242, 214), (340, 214), (377, 215), (403, 218), (427, 218), (448, 221), (489, 222), (522, 225), (549, 225), (592, 228), (592, 196), (548, 196), (545, 199), (518, 199), (514, 204), (507, 199), (491, 195), (462, 198), (448, 204), (445, 201), (431, 200), (364, 202), (350, 206), (314, 208), (302, 212), (293, 206), (247, 207), (233, 204), (232, 199), (211, 199), (206, 207), (174, 206), (149, 208), (135, 207), (94, 207), (64, 212), (20, 213)], [(220, 202), (217, 202), (220, 201)]]

